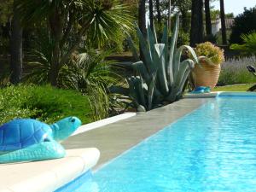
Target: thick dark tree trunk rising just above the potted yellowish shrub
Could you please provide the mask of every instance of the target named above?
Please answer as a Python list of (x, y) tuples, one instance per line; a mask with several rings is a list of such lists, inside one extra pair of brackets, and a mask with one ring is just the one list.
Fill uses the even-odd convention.
[(195, 44), (202, 43), (203, 36), (203, 1), (192, 0), (190, 46), (195, 47)]

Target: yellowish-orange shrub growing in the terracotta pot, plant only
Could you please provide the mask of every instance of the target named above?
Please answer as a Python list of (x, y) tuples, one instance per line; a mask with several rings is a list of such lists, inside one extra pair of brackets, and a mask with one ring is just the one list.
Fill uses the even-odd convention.
[(210, 42), (197, 44), (195, 54), (207, 57), (207, 61), (210, 61), (214, 65), (221, 64), (224, 61), (224, 50), (219, 49)]

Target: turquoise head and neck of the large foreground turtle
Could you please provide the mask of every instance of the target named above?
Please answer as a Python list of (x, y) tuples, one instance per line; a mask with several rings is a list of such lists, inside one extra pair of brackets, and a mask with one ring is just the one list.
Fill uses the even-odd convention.
[(81, 125), (81, 120), (77, 117), (67, 117), (50, 125), (55, 141), (62, 141), (69, 137)]

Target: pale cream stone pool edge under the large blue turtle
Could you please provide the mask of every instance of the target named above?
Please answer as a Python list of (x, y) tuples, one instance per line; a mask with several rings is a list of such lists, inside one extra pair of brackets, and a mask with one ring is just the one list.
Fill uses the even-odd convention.
[(99, 160), (97, 148), (67, 150), (65, 158), (0, 164), (1, 192), (51, 192), (88, 172)]

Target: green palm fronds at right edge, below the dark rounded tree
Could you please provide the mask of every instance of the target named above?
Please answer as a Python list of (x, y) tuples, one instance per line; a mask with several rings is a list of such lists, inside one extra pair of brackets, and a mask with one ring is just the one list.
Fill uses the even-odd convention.
[(256, 56), (256, 32), (241, 35), (243, 44), (232, 44), (230, 49), (240, 50), (244, 55)]

